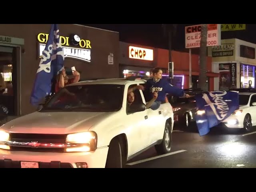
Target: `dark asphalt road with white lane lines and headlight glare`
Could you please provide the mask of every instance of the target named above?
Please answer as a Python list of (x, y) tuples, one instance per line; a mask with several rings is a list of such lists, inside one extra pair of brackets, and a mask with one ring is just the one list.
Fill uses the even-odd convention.
[(174, 130), (172, 152), (158, 156), (153, 148), (133, 158), (126, 168), (255, 168), (256, 128), (212, 128), (209, 134)]

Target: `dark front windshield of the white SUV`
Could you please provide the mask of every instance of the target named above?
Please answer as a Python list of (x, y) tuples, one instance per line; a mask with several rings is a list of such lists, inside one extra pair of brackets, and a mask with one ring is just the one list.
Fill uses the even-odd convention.
[(40, 112), (112, 112), (122, 107), (124, 85), (89, 84), (66, 86), (55, 94)]

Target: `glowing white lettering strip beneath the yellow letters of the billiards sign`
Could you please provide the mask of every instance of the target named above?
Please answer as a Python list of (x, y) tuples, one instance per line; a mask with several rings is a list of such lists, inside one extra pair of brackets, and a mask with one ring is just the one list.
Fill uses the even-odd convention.
[[(39, 56), (42, 56), (42, 52), (44, 51), (45, 44), (39, 44)], [(81, 48), (74, 48), (74, 47), (64, 47), (64, 57), (75, 58), (87, 62), (91, 62), (91, 50), (90, 49), (81, 49)]]

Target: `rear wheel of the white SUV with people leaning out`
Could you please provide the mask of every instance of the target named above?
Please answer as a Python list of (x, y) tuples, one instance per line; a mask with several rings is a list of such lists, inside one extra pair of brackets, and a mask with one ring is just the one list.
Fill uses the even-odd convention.
[(155, 149), (159, 155), (162, 155), (162, 154), (170, 153), (171, 146), (172, 146), (172, 128), (170, 126), (170, 123), (166, 122), (162, 142), (158, 145), (155, 145)]

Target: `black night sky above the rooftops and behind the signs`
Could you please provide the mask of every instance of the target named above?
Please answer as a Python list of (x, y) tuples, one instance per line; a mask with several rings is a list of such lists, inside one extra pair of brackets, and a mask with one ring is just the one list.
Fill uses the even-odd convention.
[[(96, 28), (119, 32), (120, 41), (144, 46), (168, 49), (168, 42), (163, 36), (161, 24), (84, 24)], [(195, 24), (178, 24), (177, 36), (173, 40), (172, 49), (185, 49), (185, 26)], [(246, 24), (246, 30), (221, 33), (222, 39), (238, 38), (256, 44), (256, 24)], [(197, 52), (197, 50), (194, 50)], [(193, 52), (193, 50), (192, 50)]]

